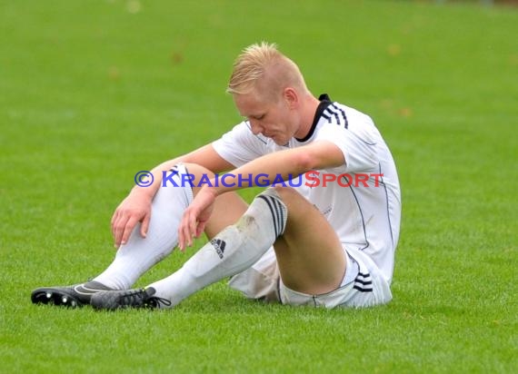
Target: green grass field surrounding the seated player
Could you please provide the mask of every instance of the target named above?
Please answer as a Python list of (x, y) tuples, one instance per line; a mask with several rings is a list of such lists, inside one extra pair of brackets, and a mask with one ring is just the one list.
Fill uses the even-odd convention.
[[(0, 372), (517, 372), (517, 34), (518, 8), (478, 2), (2, 2)], [(224, 88), (261, 40), (391, 146), (393, 302), (296, 309), (221, 282), (164, 312), (32, 305), (111, 261), (135, 172), (239, 121)]]

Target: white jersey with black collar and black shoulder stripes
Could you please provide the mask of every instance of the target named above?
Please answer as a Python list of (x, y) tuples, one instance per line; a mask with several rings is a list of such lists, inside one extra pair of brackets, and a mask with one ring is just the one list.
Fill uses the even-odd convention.
[[(239, 167), (264, 154), (316, 141), (336, 144), (344, 153), (344, 165), (306, 173), (286, 185), (324, 214), (346, 249), (367, 254), (390, 284), (401, 220), (401, 192), (392, 154), (368, 115), (333, 103), (325, 94), (320, 100), (304, 139), (292, 138), (281, 146), (254, 135), (244, 121), (215, 141), (214, 149)], [(270, 177), (273, 182), (274, 176)]]

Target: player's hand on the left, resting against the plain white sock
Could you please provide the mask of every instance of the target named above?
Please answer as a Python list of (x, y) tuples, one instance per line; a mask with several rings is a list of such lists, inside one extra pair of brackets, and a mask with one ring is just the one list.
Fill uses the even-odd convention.
[(148, 195), (130, 193), (117, 207), (111, 222), (115, 248), (126, 243), (138, 222), (142, 222), (140, 234), (145, 238), (151, 219), (152, 201)]

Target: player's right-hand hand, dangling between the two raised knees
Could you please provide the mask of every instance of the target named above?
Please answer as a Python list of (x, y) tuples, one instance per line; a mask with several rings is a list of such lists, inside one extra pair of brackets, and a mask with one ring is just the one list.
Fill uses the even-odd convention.
[(184, 216), (178, 227), (178, 247), (184, 251), (185, 247), (193, 245), (193, 237), (198, 238), (205, 229), (214, 209), (217, 193), (214, 188), (204, 186), (193, 202), (184, 211)]

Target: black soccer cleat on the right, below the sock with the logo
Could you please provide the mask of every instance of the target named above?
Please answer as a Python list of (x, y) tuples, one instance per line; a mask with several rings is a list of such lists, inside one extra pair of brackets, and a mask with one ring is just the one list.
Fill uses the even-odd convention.
[(153, 287), (138, 290), (107, 290), (95, 293), (90, 304), (96, 310), (155, 309), (171, 305), (170, 300), (154, 297), (155, 292)]

